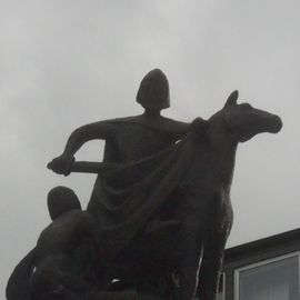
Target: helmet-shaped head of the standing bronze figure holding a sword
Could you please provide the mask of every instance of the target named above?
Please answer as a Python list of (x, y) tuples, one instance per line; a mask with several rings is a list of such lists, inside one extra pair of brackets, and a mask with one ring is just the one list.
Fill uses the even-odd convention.
[(146, 110), (162, 110), (170, 107), (169, 82), (166, 74), (154, 69), (142, 79), (138, 94), (139, 102)]

